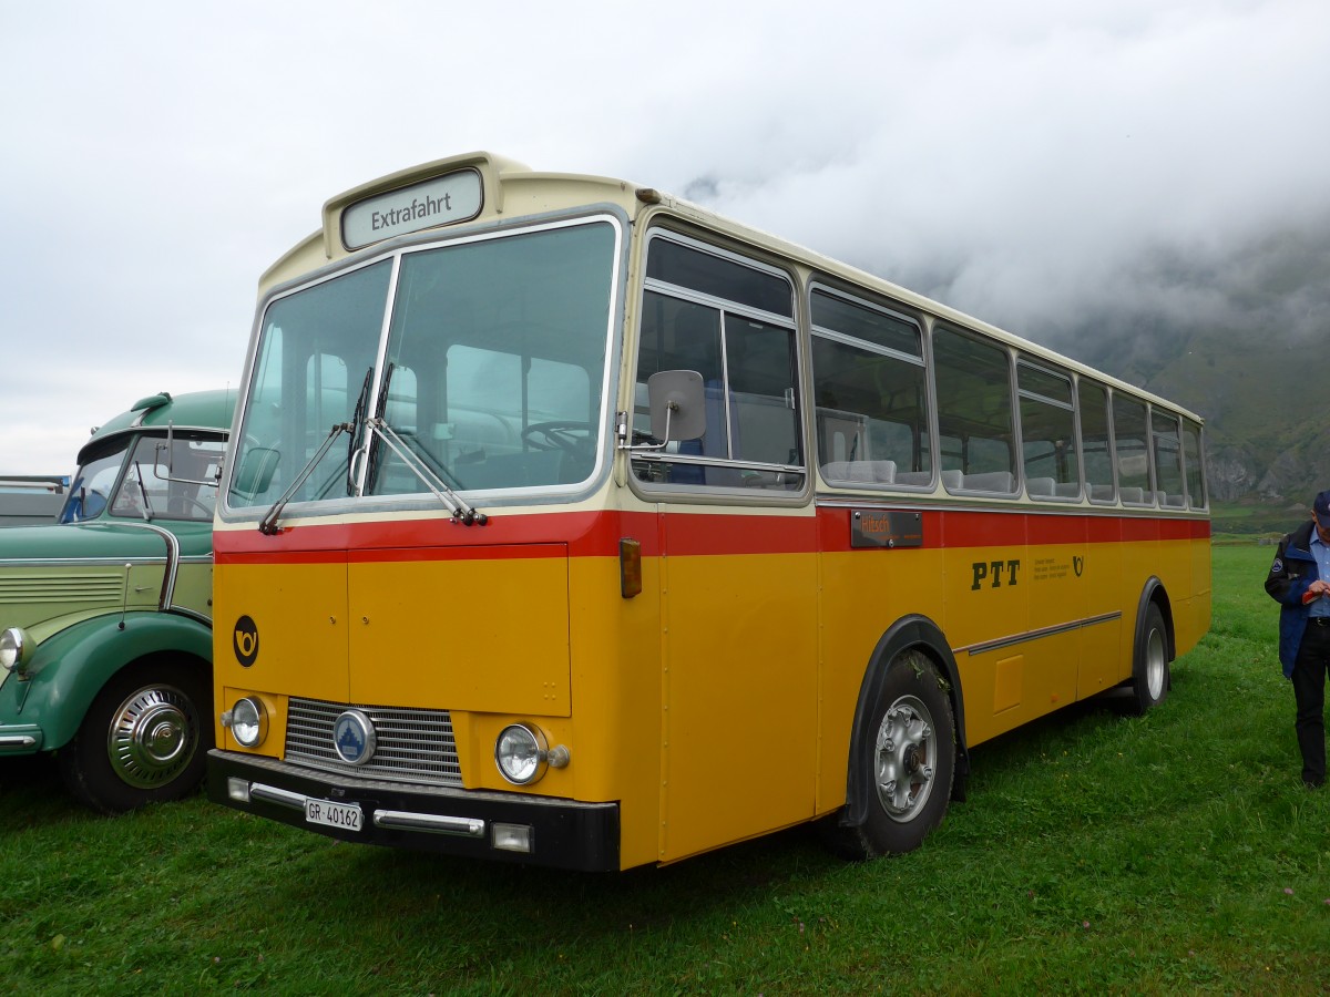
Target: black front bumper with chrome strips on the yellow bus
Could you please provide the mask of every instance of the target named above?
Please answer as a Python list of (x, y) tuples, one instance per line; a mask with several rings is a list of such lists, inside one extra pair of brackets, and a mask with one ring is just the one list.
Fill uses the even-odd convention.
[[(618, 868), (618, 804), (356, 779), (271, 758), (207, 752), (207, 798), (342, 841), (587, 872)], [(351, 804), (358, 831), (306, 819), (306, 802)], [(527, 851), (497, 847), (527, 828)]]

